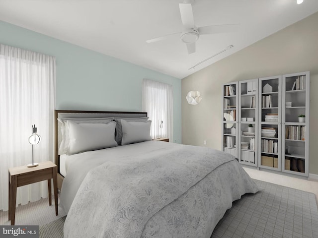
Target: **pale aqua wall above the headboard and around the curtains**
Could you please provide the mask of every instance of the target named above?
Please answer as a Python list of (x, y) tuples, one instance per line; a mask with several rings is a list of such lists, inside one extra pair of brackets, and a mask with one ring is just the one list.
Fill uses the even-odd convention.
[(0, 43), (56, 58), (56, 109), (142, 111), (144, 78), (173, 87), (173, 133), (181, 143), (181, 80), (0, 21)]

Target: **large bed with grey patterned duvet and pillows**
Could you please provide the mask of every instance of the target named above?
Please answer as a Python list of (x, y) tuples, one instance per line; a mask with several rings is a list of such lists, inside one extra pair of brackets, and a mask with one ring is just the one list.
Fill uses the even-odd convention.
[[(69, 113), (62, 117), (68, 120), (78, 112)], [(77, 118), (93, 113), (91, 118), (96, 118), (96, 112), (79, 112)], [(151, 123), (145, 119), (147, 114), (127, 113), (125, 117), (131, 120), (118, 120), (123, 118), (118, 113), (100, 113), (101, 118), (113, 118), (115, 126), (122, 123), (121, 141), (115, 129), (117, 146), (89, 151), (73, 148), (72, 153), (57, 157), (58, 163), (63, 158), (65, 170), (60, 195), (60, 206), (68, 214), (65, 238), (209, 238), (234, 200), (258, 191), (230, 154), (153, 141), (147, 135), (136, 142), (135, 136), (144, 131), (138, 126)], [(109, 126), (113, 127), (112, 121)], [(59, 138), (56, 141), (61, 145)], [(56, 152), (60, 154), (58, 148)]]

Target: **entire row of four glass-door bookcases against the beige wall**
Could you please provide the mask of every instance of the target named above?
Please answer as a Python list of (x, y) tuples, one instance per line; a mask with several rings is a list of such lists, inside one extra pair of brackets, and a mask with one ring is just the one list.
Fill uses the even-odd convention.
[(223, 151), (242, 165), (309, 176), (310, 72), (227, 83), (223, 92)]

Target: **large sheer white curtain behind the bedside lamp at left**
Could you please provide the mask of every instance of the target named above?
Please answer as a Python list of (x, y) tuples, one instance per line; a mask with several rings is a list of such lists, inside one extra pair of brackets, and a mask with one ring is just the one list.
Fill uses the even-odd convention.
[[(54, 161), (55, 58), (0, 44), (0, 210), (8, 210), (8, 168)], [(47, 181), (18, 187), (16, 204), (48, 196)]]

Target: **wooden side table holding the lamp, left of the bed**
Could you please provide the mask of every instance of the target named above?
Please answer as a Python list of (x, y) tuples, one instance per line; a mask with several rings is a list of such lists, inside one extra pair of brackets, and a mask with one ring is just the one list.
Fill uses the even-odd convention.
[(28, 168), (26, 165), (9, 168), (9, 220), (14, 225), (16, 188), (30, 183), (48, 180), (49, 205), (52, 205), (51, 179), (53, 179), (55, 214), (58, 215), (58, 182), (57, 166), (51, 161), (39, 163), (36, 167)]

